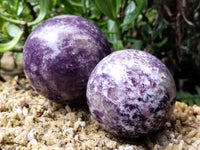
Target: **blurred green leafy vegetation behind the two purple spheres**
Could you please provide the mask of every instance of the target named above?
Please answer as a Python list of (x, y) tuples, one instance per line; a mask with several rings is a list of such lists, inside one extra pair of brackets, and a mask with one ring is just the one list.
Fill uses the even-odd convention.
[[(60, 14), (93, 22), (113, 51), (141, 49), (157, 56), (175, 78), (178, 99), (200, 105), (199, 0), (1, 0), (0, 59), (7, 51), (22, 59), (31, 31)], [(0, 71), (6, 73), (1, 63)]]

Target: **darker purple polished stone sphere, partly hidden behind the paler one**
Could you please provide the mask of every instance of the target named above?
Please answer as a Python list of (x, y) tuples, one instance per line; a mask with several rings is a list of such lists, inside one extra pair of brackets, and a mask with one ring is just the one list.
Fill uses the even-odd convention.
[(61, 103), (84, 99), (89, 75), (110, 54), (108, 42), (91, 22), (60, 15), (41, 23), (28, 37), (24, 71), (43, 96)]

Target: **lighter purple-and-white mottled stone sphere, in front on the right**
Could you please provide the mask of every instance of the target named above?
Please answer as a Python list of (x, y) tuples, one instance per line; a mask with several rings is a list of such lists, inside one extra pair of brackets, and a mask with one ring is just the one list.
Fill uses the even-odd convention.
[(176, 86), (167, 67), (139, 50), (114, 52), (92, 71), (87, 102), (108, 132), (139, 137), (159, 130), (169, 118)]

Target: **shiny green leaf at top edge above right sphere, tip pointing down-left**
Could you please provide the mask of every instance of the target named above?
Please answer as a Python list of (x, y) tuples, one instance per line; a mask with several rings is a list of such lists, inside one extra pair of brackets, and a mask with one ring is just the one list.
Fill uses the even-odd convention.
[(140, 15), (142, 10), (147, 6), (147, 0), (139, 0), (138, 4), (135, 9), (131, 8), (134, 7), (134, 2), (131, 2), (127, 8), (126, 8), (126, 14), (123, 20), (123, 23), (121, 24), (121, 27), (128, 25), (137, 19), (137, 17)]

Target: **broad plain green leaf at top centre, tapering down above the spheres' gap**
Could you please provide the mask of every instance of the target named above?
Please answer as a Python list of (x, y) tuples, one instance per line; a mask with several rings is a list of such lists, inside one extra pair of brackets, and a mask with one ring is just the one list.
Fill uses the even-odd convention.
[(94, 0), (96, 7), (107, 17), (112, 20), (117, 19), (121, 0)]

